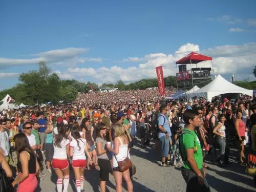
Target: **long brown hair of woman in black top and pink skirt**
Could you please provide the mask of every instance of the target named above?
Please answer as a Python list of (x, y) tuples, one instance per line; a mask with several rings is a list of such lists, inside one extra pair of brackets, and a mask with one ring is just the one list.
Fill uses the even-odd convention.
[(29, 140), (24, 133), (18, 133), (14, 136), (13, 140), (15, 142), (15, 149), (17, 150), (18, 154), (22, 153), (23, 151), (34, 153), (34, 150), (31, 148)]

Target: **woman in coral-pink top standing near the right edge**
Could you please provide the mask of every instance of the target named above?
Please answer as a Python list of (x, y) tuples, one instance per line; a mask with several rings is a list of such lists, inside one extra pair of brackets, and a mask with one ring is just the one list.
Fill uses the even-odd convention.
[(245, 139), (245, 132), (248, 131), (246, 129), (246, 124), (242, 120), (243, 112), (241, 110), (237, 111), (237, 118), (234, 121), (234, 126), (236, 127), (237, 131), (237, 140), (238, 144), (238, 161), (239, 163), (244, 163), (243, 158), (244, 156), (244, 139)]

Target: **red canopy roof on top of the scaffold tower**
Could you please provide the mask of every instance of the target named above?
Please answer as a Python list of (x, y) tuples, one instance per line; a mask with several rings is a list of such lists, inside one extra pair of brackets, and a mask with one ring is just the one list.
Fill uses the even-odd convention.
[(185, 57), (178, 60), (176, 62), (176, 65), (177, 64), (190, 64), (190, 63), (196, 64), (196, 63), (199, 63), (204, 60), (212, 60), (212, 58), (205, 56), (205, 55), (201, 55), (199, 53), (191, 52), (188, 55), (186, 55)]

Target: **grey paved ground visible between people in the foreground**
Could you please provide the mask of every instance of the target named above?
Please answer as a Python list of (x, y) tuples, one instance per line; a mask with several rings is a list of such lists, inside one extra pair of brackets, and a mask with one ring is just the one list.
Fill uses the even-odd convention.
[[(180, 170), (173, 166), (159, 166), (159, 157), (153, 143), (151, 144), (142, 149), (139, 146), (139, 141), (136, 140), (135, 146), (132, 148), (132, 161), (137, 168), (137, 173), (133, 179), (134, 191), (185, 191), (185, 182)], [(208, 155), (206, 157), (206, 162), (210, 166), (210, 169), (207, 170), (206, 178), (211, 191), (256, 191), (253, 177), (245, 174), (245, 166), (237, 164), (237, 151), (231, 148), (230, 153), (232, 164), (228, 168), (220, 168), (217, 163), (211, 161), (214, 159), (212, 156)], [(86, 191), (99, 191), (98, 177), (98, 170), (90, 172), (86, 170), (84, 189)], [(72, 171), (70, 178), (69, 191), (75, 191)], [(55, 191), (55, 181), (55, 174), (47, 174), (44, 180), (41, 181), (40, 188), (37, 191)], [(125, 184), (123, 184), (123, 187), (124, 191), (126, 191)], [(107, 188), (107, 191), (115, 191), (115, 180), (111, 175)]]

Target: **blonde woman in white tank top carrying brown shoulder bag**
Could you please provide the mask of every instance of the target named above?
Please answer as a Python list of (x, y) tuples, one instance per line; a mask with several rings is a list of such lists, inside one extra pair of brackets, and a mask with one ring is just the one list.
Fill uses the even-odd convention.
[(116, 123), (113, 128), (115, 130), (114, 148), (112, 148), (110, 144), (107, 144), (106, 147), (116, 156), (116, 158), (113, 157), (113, 174), (116, 181), (116, 191), (122, 191), (122, 178), (124, 178), (127, 190), (132, 192), (133, 183), (130, 178), (130, 170), (127, 169), (124, 172), (119, 172), (118, 169), (116, 169), (116, 167), (118, 167), (117, 161), (122, 161), (126, 157), (130, 158), (128, 152), (128, 138), (122, 124)]

